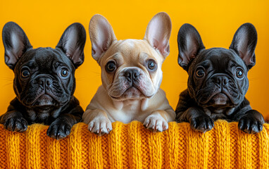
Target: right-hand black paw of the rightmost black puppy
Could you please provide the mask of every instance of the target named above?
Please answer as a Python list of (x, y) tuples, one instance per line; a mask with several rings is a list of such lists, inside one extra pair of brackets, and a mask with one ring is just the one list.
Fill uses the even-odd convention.
[(243, 116), (239, 120), (238, 128), (243, 132), (255, 134), (263, 130), (263, 123), (261, 122), (261, 120), (258, 120), (256, 118), (249, 118), (247, 116)]

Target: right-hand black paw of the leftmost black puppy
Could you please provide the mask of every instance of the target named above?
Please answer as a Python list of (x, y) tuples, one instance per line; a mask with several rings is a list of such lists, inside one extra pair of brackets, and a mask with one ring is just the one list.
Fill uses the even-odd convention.
[(63, 120), (56, 119), (49, 129), (46, 131), (46, 134), (54, 139), (63, 139), (68, 136), (71, 132), (72, 125), (69, 123), (63, 122)]

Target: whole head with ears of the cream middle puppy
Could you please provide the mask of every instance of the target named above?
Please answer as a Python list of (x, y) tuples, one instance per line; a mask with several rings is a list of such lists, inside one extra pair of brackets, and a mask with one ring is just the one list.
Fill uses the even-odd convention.
[(162, 80), (161, 65), (169, 54), (170, 30), (169, 16), (158, 13), (143, 40), (118, 41), (106, 18), (94, 15), (89, 23), (92, 56), (101, 66), (102, 83), (112, 99), (143, 99), (156, 94)]

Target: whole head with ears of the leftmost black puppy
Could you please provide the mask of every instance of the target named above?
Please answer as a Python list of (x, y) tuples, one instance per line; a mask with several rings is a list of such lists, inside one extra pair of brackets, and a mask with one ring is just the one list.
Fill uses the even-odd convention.
[(75, 91), (75, 69), (84, 61), (85, 29), (70, 25), (56, 49), (32, 49), (25, 32), (15, 23), (3, 30), (5, 61), (14, 71), (13, 87), (28, 108), (63, 106)]

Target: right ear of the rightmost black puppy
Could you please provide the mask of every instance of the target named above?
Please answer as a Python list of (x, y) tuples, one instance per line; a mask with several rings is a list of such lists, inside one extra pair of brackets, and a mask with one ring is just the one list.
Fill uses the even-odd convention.
[(230, 49), (233, 49), (243, 59), (246, 67), (251, 69), (256, 63), (255, 48), (257, 31), (251, 23), (244, 23), (234, 34)]

